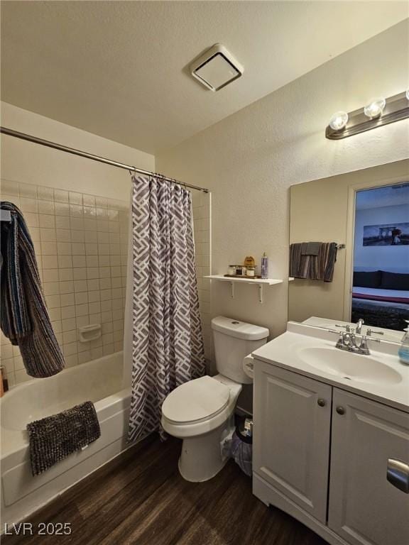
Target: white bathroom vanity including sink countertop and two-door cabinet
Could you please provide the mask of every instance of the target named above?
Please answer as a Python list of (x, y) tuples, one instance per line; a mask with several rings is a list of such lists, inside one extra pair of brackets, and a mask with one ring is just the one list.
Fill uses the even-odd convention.
[(288, 323), (254, 360), (253, 493), (329, 544), (409, 544), (409, 367)]

